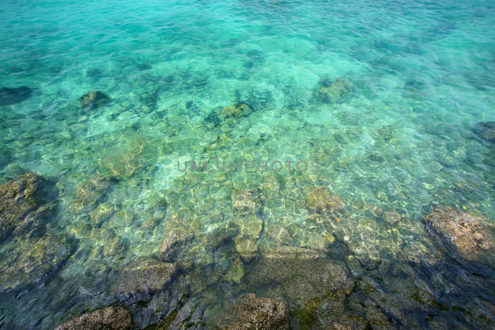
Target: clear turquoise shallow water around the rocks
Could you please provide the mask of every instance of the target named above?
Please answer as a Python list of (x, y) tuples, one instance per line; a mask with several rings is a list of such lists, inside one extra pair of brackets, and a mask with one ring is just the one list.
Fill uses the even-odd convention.
[[(272, 225), (290, 232), (282, 244), (344, 261), (355, 256), (363, 264), (370, 257), (400, 259), (403, 244), (429, 246), (421, 229), (405, 239), (403, 222), (370, 216), (375, 207), (412, 219), (414, 228), (440, 204), (495, 218), (493, 167), (486, 161), (491, 146), (473, 134), (476, 123), (495, 120), (489, 1), (24, 1), (1, 10), (0, 87), (35, 91), (0, 107), (0, 183), (15, 176), (14, 165), (56, 182), (50, 228), (75, 236), (72, 256), (46, 284), (3, 293), (5, 329), (50, 329), (116, 303), (109, 288), (136, 258), (160, 258), (162, 235), (177, 210), (188, 213), (184, 223), (199, 222), (202, 235), (220, 231), (238, 218), (234, 189), (259, 189), (260, 253), (281, 244), (266, 236)], [(332, 78), (350, 82), (351, 92), (322, 102), (316, 97), (321, 80)], [(77, 99), (89, 91), (102, 91), (111, 102), (84, 108)], [(224, 120), (222, 108), (238, 101), (253, 112)], [(318, 161), (321, 170), (177, 169), (177, 161), (215, 157)], [(112, 178), (99, 200), (111, 202), (112, 211), (96, 229), (79, 232), (74, 228), (89, 221), (90, 210), (71, 212), (70, 205), (77, 187), (96, 175)], [(305, 196), (316, 186), (344, 199), (343, 221), (308, 220), (313, 212)], [(142, 230), (149, 205), (164, 197), (166, 211), (152, 214), (155, 228)], [(116, 216), (121, 210), (125, 216)], [(337, 243), (322, 242), (325, 233)], [(115, 237), (122, 249), (102, 251)], [(207, 280), (211, 263), (198, 237), (185, 247), (194, 266), (180, 276), (200, 269)], [(224, 245), (215, 258), (226, 269), (238, 255), (234, 243)], [(1, 248), (8, 255), (16, 247)], [(409, 257), (418, 269), (431, 266)], [(206, 315), (225, 297), (253, 290), (275, 296), (246, 281), (194, 290), (186, 280), (184, 292), (215, 292)], [(129, 308), (137, 326), (172, 309)]]

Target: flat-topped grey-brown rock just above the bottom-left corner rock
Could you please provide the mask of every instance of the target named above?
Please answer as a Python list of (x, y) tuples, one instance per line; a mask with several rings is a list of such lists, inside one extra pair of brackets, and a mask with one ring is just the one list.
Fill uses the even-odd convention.
[(110, 291), (113, 294), (123, 293), (125, 296), (158, 292), (172, 280), (175, 271), (176, 266), (173, 263), (139, 260), (122, 271)]

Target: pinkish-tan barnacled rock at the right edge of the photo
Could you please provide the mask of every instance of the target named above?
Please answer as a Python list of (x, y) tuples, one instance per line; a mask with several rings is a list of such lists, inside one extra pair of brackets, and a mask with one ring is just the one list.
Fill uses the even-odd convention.
[(465, 259), (476, 259), (495, 247), (490, 220), (450, 206), (441, 206), (423, 216), (441, 240)]

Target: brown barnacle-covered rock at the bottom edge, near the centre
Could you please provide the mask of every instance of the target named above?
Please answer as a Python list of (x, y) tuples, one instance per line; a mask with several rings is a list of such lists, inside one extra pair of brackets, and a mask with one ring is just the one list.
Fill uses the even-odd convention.
[(287, 304), (249, 293), (240, 297), (229, 316), (217, 325), (222, 330), (286, 330), (289, 329)]

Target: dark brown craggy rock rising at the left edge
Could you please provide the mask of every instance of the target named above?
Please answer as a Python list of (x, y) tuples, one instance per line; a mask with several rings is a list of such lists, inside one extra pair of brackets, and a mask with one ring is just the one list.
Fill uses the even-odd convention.
[[(45, 178), (35, 173), (25, 173), (17, 179), (0, 186), (0, 239), (12, 233), (16, 226), (24, 223), (23, 232), (34, 219), (24, 219), (36, 210), (40, 201), (40, 189)], [(36, 218), (34, 216), (34, 218)]]

